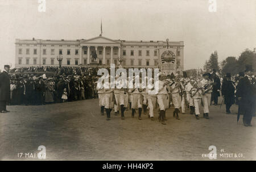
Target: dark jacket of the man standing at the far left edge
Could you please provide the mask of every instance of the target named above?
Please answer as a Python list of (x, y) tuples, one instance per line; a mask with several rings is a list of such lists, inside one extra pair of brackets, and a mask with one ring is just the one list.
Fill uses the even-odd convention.
[(0, 101), (10, 101), (10, 78), (7, 72), (0, 74)]

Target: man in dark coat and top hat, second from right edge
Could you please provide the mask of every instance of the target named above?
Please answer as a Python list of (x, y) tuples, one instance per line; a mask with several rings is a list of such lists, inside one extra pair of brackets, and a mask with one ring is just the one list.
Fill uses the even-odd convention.
[(230, 107), (234, 104), (234, 91), (236, 86), (234, 85), (233, 81), (231, 80), (231, 74), (226, 74), (226, 79), (224, 79), (221, 88), (221, 94), (224, 96), (224, 102), (226, 104), (226, 114), (230, 114)]

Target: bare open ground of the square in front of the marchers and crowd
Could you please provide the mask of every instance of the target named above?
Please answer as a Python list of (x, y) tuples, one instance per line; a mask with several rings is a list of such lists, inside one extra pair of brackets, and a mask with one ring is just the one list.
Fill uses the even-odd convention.
[(168, 109), (166, 126), (147, 115), (131, 118), (131, 110), (125, 120), (112, 113), (106, 121), (97, 99), (7, 108), (10, 113), (0, 114), (0, 160), (38, 160), (39, 145), (46, 147), (47, 160), (209, 160), (202, 154), (210, 145), (217, 160), (256, 160), (255, 118), (253, 127), (237, 124), (236, 106), (233, 114), (218, 105), (210, 119), (183, 114), (180, 121)]

